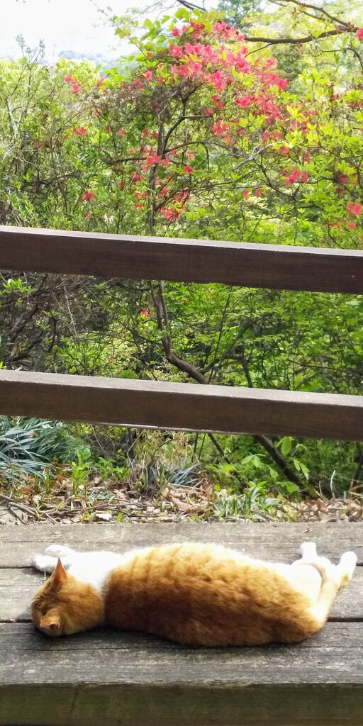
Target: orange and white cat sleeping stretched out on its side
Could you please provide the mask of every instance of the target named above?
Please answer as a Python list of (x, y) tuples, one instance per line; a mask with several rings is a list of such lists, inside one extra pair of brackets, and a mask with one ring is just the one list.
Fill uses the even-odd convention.
[(124, 555), (52, 544), (33, 560), (53, 573), (33, 598), (33, 621), (46, 635), (110, 625), (186, 645), (295, 643), (323, 627), (356, 566), (354, 552), (333, 565), (317, 555), (314, 542), (302, 544), (301, 555), (285, 565), (219, 544), (168, 544)]

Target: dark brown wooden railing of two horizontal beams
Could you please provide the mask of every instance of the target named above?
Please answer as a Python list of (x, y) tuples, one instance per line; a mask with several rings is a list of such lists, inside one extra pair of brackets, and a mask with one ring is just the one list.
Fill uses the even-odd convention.
[[(0, 269), (363, 293), (363, 252), (0, 227)], [(362, 371), (363, 375), (363, 371)], [(0, 371), (0, 414), (363, 439), (363, 396)]]

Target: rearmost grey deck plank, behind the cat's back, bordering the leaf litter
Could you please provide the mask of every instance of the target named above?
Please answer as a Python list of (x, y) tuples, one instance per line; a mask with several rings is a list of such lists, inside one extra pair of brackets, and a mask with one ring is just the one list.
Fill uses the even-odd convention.
[(363, 564), (363, 523), (146, 523), (37, 524), (0, 529), (0, 568), (25, 568), (48, 544), (60, 542), (78, 550), (124, 552), (132, 547), (168, 542), (219, 542), (256, 557), (293, 562), (301, 542), (317, 542), (319, 552), (337, 560), (354, 550)]

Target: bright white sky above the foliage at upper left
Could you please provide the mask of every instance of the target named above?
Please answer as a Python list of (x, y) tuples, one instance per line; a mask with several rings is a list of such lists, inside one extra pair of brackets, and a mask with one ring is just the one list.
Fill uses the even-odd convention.
[[(175, 4), (166, 0), (164, 7)], [(19, 57), (16, 36), (22, 35), (30, 47), (39, 39), (45, 41), (49, 63), (67, 51), (112, 60), (125, 49), (96, 6), (111, 17), (123, 15), (129, 7), (140, 12), (151, 8), (147, 15), (158, 15), (154, 0), (0, 0), (0, 6), (0, 57)]]

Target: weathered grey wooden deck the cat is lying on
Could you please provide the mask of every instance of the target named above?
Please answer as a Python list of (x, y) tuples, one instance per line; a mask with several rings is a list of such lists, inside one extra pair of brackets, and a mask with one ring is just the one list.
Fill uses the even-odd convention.
[[(181, 648), (102, 630), (49, 640), (28, 605), (40, 583), (34, 554), (61, 542), (125, 551), (183, 540), (224, 542), (292, 561), (302, 541), (359, 557), (325, 629), (294, 646)], [(363, 523), (145, 524), (0, 530), (1, 726), (362, 726)]]

